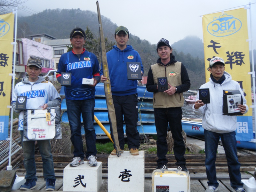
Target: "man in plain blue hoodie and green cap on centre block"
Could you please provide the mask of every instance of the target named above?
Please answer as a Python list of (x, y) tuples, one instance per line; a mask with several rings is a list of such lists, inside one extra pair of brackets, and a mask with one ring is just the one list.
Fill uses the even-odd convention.
[[(129, 31), (124, 26), (119, 26), (115, 31), (116, 44), (113, 49), (107, 52), (109, 78), (111, 82), (112, 98), (116, 112), (116, 127), (121, 151), (124, 151), (124, 123), (127, 144), (132, 155), (139, 155), (140, 133), (137, 130), (138, 123), (138, 94), (137, 80), (128, 80), (127, 62), (140, 62), (141, 75), (143, 66), (140, 55), (131, 45), (127, 45)], [(101, 82), (106, 81), (103, 76), (103, 69), (100, 69)], [(123, 117), (124, 115), (124, 117)], [(113, 139), (112, 127), (110, 128)], [(116, 155), (116, 149), (111, 152)]]

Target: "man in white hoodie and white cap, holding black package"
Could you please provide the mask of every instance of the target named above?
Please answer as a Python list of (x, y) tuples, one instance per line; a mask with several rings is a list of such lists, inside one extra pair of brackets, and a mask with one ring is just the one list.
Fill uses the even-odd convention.
[(225, 71), (225, 62), (220, 57), (210, 61), (210, 82), (203, 84), (202, 88), (210, 89), (210, 104), (204, 104), (199, 100), (197, 93), (193, 111), (203, 116), (203, 128), (205, 138), (205, 167), (209, 188), (206, 192), (218, 191), (219, 183), (216, 178), (215, 159), (218, 142), (221, 139), (225, 150), (230, 185), (236, 192), (245, 192), (241, 183), (240, 163), (236, 153), (236, 116), (222, 115), (223, 90), (239, 90), (243, 97), (243, 105), (238, 109), (242, 114), (248, 111), (244, 94), (240, 85), (231, 79), (231, 75)]

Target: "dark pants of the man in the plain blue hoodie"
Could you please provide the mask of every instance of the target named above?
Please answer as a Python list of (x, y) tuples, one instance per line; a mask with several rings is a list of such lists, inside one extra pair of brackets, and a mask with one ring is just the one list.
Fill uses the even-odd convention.
[[(119, 140), (119, 146), (124, 149), (124, 123), (127, 136), (128, 148), (140, 147), (140, 133), (137, 130), (138, 124), (138, 96), (137, 94), (115, 96), (112, 95), (116, 113), (116, 127)], [(124, 115), (124, 116), (123, 116)], [(113, 139), (112, 127), (110, 126), (110, 135)]]

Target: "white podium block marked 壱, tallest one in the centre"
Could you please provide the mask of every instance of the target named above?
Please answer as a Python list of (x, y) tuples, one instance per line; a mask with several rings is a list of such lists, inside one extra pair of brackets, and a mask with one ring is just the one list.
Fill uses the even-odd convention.
[(144, 192), (144, 151), (108, 156), (108, 192)]

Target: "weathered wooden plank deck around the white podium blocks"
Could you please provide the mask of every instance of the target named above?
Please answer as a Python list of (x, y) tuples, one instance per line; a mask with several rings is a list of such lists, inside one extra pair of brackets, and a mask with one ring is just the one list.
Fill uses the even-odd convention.
[[(195, 143), (204, 148), (204, 141), (187, 137), (188, 143)], [(108, 154), (97, 154), (97, 161), (102, 162), (102, 184), (100, 192), (108, 191)], [(63, 191), (63, 169), (71, 162), (73, 154), (53, 154), (54, 170), (56, 177), (55, 189), (56, 191)], [(168, 168), (176, 168), (175, 158), (173, 154), (167, 154), (169, 160)], [(207, 177), (205, 172), (204, 160), (205, 154), (185, 154), (186, 166), (190, 172), (190, 188), (191, 192), (203, 192), (208, 187)], [(43, 163), (40, 155), (35, 156), (37, 176), (36, 188), (32, 191), (45, 191), (45, 181), (43, 179)], [(152, 191), (151, 172), (156, 168), (156, 155), (145, 154), (145, 181), (144, 191)], [(238, 160), (241, 163), (242, 179), (249, 179), (252, 177), (256, 168), (256, 153), (248, 150), (238, 150)], [(219, 191), (228, 192), (233, 191), (230, 186), (227, 160), (222, 146), (218, 147), (218, 154), (216, 158), (217, 179), (219, 182)], [(16, 169), (19, 176), (25, 176), (25, 169)], [(20, 190), (13, 190), (20, 192)]]

